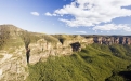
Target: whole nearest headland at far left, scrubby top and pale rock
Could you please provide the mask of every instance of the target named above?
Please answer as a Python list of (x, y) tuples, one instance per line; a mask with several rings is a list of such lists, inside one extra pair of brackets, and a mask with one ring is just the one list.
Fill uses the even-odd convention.
[(23, 81), (28, 76), (23, 31), (13, 25), (0, 26), (0, 81)]

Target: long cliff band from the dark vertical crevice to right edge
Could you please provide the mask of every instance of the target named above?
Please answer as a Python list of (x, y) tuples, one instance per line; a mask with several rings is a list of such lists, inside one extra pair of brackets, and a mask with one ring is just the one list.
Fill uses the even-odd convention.
[(30, 64), (36, 64), (39, 60), (44, 60), (48, 56), (70, 55), (73, 52), (81, 51), (88, 44), (131, 44), (131, 37), (74, 37), (57, 42), (48, 42), (45, 39), (40, 39), (37, 43), (30, 43)]

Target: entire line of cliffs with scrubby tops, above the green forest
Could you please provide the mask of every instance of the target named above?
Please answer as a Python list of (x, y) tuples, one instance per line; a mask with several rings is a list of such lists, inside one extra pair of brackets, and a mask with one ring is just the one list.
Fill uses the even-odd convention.
[(24, 81), (28, 64), (44, 62), (49, 56), (70, 55), (88, 44), (131, 44), (122, 36), (49, 36), (28, 32), (13, 25), (0, 26), (0, 81)]

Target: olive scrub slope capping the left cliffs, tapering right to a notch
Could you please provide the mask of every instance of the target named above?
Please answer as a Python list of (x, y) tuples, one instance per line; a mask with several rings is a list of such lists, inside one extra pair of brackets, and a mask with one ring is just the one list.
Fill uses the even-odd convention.
[[(29, 32), (13, 25), (0, 25), (0, 50), (8, 50), (13, 53), (14, 48), (25, 45), (27, 49), (30, 43), (37, 43), (39, 39), (44, 39), (51, 43), (58, 42), (58, 39), (49, 35)], [(11, 50), (12, 46), (14, 51)]]

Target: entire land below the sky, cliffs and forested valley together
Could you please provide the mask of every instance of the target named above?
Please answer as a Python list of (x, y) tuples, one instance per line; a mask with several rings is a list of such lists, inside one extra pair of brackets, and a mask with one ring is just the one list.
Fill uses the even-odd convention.
[(45, 35), (0, 25), (0, 81), (130, 81), (130, 60), (131, 36)]

